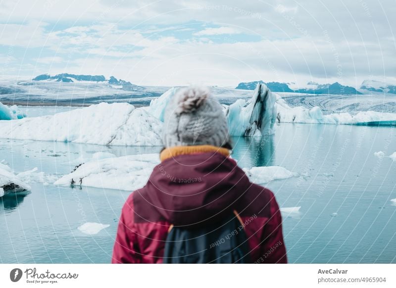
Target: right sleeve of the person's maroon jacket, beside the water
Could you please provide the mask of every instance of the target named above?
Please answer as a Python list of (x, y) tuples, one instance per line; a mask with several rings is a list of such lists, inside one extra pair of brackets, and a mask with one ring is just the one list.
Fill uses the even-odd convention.
[(278, 203), (272, 192), (270, 200), (270, 218), (264, 227), (261, 239), (261, 257), (256, 263), (283, 263), (288, 262), (285, 241), (282, 233), (282, 215)]

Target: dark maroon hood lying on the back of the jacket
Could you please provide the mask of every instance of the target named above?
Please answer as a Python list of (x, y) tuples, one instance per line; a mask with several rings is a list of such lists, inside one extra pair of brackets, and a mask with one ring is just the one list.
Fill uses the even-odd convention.
[(250, 185), (230, 157), (216, 152), (187, 154), (154, 167), (146, 197), (174, 226), (200, 225), (231, 215)]

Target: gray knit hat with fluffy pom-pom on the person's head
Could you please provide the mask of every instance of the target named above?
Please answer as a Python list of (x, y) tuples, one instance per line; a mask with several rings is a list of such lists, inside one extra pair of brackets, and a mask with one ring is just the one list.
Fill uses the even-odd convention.
[(165, 147), (229, 145), (226, 115), (208, 87), (181, 88), (169, 100), (162, 142)]

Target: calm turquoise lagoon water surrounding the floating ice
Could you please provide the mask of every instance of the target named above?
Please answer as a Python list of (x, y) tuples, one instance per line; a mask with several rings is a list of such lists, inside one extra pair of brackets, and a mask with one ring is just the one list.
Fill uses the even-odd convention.
[[(0, 160), (16, 172), (38, 167), (46, 179), (69, 173), (97, 151), (117, 156), (160, 147), (0, 140)], [(396, 162), (374, 156), (396, 151), (394, 127), (287, 124), (262, 140), (233, 139), (241, 167), (283, 166), (297, 177), (272, 181), (284, 215), (291, 263), (396, 263)], [(1, 263), (108, 263), (121, 207), (130, 192), (31, 183), (32, 192), (0, 200)], [(337, 214), (334, 214), (337, 213)], [(98, 234), (77, 228), (108, 224)]]

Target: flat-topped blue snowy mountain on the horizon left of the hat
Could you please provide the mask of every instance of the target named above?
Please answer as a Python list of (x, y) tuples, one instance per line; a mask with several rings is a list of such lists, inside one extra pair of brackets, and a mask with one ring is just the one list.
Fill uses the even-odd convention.
[[(109, 85), (115, 85), (121, 90), (125, 91), (142, 91), (143, 87), (132, 84), (125, 80), (117, 80), (114, 76), (110, 76), (110, 79), (106, 79), (103, 75), (76, 75), (69, 73), (56, 74), (55, 76), (50, 76), (49, 74), (42, 74), (32, 79), (32, 81), (54, 81), (54, 82), (64, 82), (64, 83), (74, 83), (74, 82), (101, 82), (107, 83)], [(87, 83), (87, 84), (88, 84)]]

